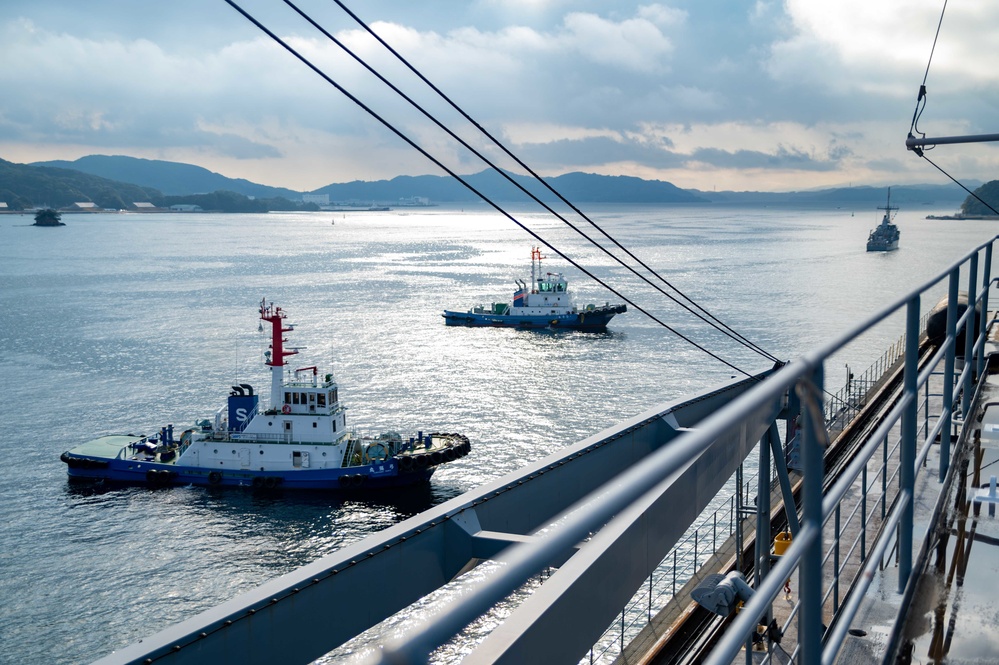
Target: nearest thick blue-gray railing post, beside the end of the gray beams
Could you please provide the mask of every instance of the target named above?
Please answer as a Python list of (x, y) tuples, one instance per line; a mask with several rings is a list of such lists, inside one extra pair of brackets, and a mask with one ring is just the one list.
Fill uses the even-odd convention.
[(812, 370), (812, 375), (799, 383), (802, 390), (802, 429), (801, 457), (802, 480), (801, 510), (802, 527), (815, 529), (815, 537), (802, 553), (798, 572), (799, 602), (801, 613), (798, 618), (798, 636), (801, 640), (801, 660), (803, 663), (819, 663), (822, 660), (822, 486), (824, 482), (824, 460), (822, 439), (825, 427), (819, 417), (822, 413), (823, 376), (822, 366)]

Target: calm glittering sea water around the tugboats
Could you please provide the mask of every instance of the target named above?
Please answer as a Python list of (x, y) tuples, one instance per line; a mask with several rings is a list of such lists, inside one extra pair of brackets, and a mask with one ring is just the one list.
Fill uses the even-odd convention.
[[(828, 341), (974, 244), (993, 222), (874, 210), (686, 206), (592, 216), (719, 318), (782, 358)], [(851, 215), (855, 213), (855, 215)], [(518, 217), (659, 318), (746, 370), (768, 366), (542, 216)], [(445, 327), (444, 308), (509, 302), (533, 239), (466, 209), (271, 215), (0, 216), (0, 662), (88, 662), (730, 368), (631, 311), (607, 333)], [(335, 224), (331, 224), (335, 221)], [(546, 252), (547, 254), (548, 252)], [(563, 261), (577, 300), (614, 302)], [(940, 289), (940, 295), (943, 289)], [(473, 452), (384, 501), (71, 485), (64, 450), (187, 426), (233, 383), (265, 385), (262, 297), (302, 365), (332, 364), (358, 429), (467, 434)], [(932, 303), (928, 303), (927, 307)], [(884, 326), (842, 361), (864, 367)], [(843, 370), (845, 372), (845, 369)], [(840, 368), (827, 368), (835, 388)]]

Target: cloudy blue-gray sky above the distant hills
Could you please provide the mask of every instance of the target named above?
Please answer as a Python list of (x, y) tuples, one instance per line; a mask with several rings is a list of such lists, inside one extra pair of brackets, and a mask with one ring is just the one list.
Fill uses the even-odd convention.
[[(241, 6), (454, 171), (477, 157), (282, 0)], [(949, 182), (905, 148), (999, 132), (999, 4), (943, 0), (343, 0), (542, 175), (701, 190)], [(333, 0), (310, 15), (497, 165), (521, 171)], [(4, 0), (0, 158), (129, 155), (310, 191), (443, 174), (224, 0)], [(939, 146), (959, 179), (999, 146)]]

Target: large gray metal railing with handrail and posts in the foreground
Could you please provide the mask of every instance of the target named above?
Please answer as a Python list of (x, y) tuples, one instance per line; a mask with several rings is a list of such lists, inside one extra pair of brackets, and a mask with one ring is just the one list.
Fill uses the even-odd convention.
[[(568, 551), (576, 543), (581, 542), (591, 533), (599, 531), (610, 523), (616, 515), (624, 511), (629, 505), (643, 498), (657, 496), (657, 485), (662, 479), (681, 469), (690, 460), (706, 451), (711, 444), (729, 433), (736, 431), (743, 421), (748, 421), (752, 416), (759, 413), (767, 405), (777, 404), (782, 396), (791, 389), (804, 390), (806, 396), (812, 403), (806, 404), (808, 415), (803, 418), (804, 429), (802, 432), (801, 449), (804, 460), (804, 475), (808, 478), (821, 478), (823, 475), (822, 454), (819, 450), (815, 431), (823, 427), (824, 417), (822, 415), (822, 383), (824, 363), (837, 351), (843, 349), (853, 339), (859, 337), (873, 326), (885, 321), (903, 308), (908, 312), (906, 318), (906, 344), (903, 397), (890, 412), (890, 418), (900, 420), (903, 431), (903, 441), (900, 444), (900, 454), (902, 464), (901, 479), (902, 488), (897, 497), (896, 505), (889, 516), (890, 523), (898, 524), (900, 530), (899, 553), (902, 557), (900, 565), (899, 580), (900, 586), (904, 586), (909, 580), (911, 572), (911, 496), (913, 474), (909, 471), (918, 471), (906, 466), (915, 462), (915, 436), (917, 428), (915, 418), (917, 414), (918, 383), (915, 371), (916, 354), (918, 353), (918, 307), (919, 296), (927, 290), (936, 286), (939, 282), (951, 276), (954, 271), (959, 271), (966, 262), (969, 263), (969, 277), (971, 287), (969, 292), (975, 293), (975, 297), (969, 301), (969, 312), (974, 311), (975, 305), (979, 302), (987, 303), (987, 290), (990, 284), (988, 273), (991, 270), (992, 246), (999, 236), (992, 238), (986, 243), (975, 247), (962, 259), (952, 264), (947, 270), (937, 277), (924, 283), (922, 286), (910, 292), (905, 297), (895, 301), (884, 309), (869, 316), (867, 319), (857, 324), (846, 333), (840, 335), (833, 341), (820, 346), (819, 348), (804, 354), (798, 361), (792, 362), (777, 370), (770, 378), (761, 381), (739, 398), (733, 400), (724, 408), (705, 418), (697, 429), (685, 432), (669, 446), (665, 446), (655, 453), (649, 455), (642, 465), (632, 467), (622, 473), (617, 478), (598, 488), (588, 497), (570, 507), (564, 518), (558, 520), (558, 525), (551, 528), (543, 537), (532, 539), (530, 542), (521, 543), (508, 548), (500, 557), (505, 565), (499, 566), (495, 574), (478, 582), (468, 593), (460, 599), (451, 603), (443, 612), (436, 615), (432, 621), (428, 621), (408, 635), (394, 640), (386, 645), (381, 653), (381, 662), (425, 662), (427, 654), (438, 646), (444, 644), (453, 635), (457, 634), (466, 625), (477, 617), (488, 611), (493, 605), (500, 602), (507, 595), (519, 588), (533, 575), (542, 570), (548, 563), (556, 558), (560, 553)], [(977, 286), (978, 280), (978, 254), (985, 249), (986, 259), (982, 274), (986, 279), (983, 283), (982, 293)], [(956, 307), (956, 302), (951, 302)], [(982, 317), (983, 320), (985, 316)], [(973, 318), (969, 319), (974, 321)], [(967, 328), (972, 332), (971, 325)], [(950, 331), (948, 331), (949, 333)], [(984, 322), (982, 330), (975, 331), (980, 337), (984, 337)], [(950, 335), (948, 334), (948, 341)], [(971, 335), (968, 336), (967, 345), (972, 349), (984, 349), (983, 342), (973, 345)], [(950, 348), (953, 349), (954, 343)], [(979, 358), (981, 362), (981, 358)], [(958, 387), (964, 388), (965, 399), (969, 399), (971, 370), (974, 367), (973, 357), (968, 355), (968, 362), (961, 373)], [(947, 377), (951, 380), (951, 377)], [(816, 413), (817, 411), (817, 413)], [(897, 414), (897, 415), (896, 415)], [(908, 424), (907, 424), (908, 423)], [(879, 430), (880, 431), (880, 428)], [(876, 439), (879, 442), (881, 439)], [(865, 447), (866, 449), (866, 447)], [(871, 452), (873, 455), (873, 451)], [(858, 465), (848, 467), (857, 475), (860, 474)], [(854, 476), (854, 480), (856, 475)], [(844, 481), (845, 482), (845, 481)], [(731, 663), (736, 653), (742, 648), (746, 639), (752, 631), (756, 629), (758, 619), (766, 612), (769, 604), (776, 597), (778, 591), (783, 586), (783, 581), (799, 565), (801, 571), (801, 599), (802, 611), (799, 621), (801, 638), (801, 657), (803, 662), (817, 664), (826, 660), (821, 644), (821, 537), (822, 522), (828, 515), (828, 505), (822, 499), (821, 485), (816, 483), (805, 483), (802, 494), (802, 522), (798, 537), (795, 538), (784, 556), (765, 577), (756, 590), (753, 598), (746, 604), (743, 611), (736, 618), (733, 625), (722, 637), (718, 646), (714, 649), (711, 663)], [(837, 483), (838, 487), (839, 483)], [(816, 493), (817, 492), (817, 493)], [(835, 508), (833, 508), (835, 509)], [(886, 548), (887, 539), (879, 541), (875, 551), (883, 554)], [(908, 548), (908, 551), (906, 551)], [(876, 561), (877, 557), (872, 556), (869, 560)], [(838, 622), (837, 632), (845, 634), (841, 630), (843, 625), (849, 624), (849, 617), (852, 617), (859, 608), (859, 600), (856, 593), (850, 597), (842, 611), (842, 615), (847, 620)], [(860, 594), (862, 595), (862, 594)], [(842, 640), (830, 640), (827, 644), (826, 653), (835, 653)]]

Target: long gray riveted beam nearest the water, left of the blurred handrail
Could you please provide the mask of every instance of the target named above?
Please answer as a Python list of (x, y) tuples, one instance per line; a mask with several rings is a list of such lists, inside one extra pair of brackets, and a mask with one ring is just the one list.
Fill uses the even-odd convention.
[(315, 660), (467, 571), (480, 555), (491, 556), (502, 540), (514, 542), (544, 528), (595, 487), (641, 464), (676, 438), (679, 430), (714, 413), (758, 381), (757, 377), (732, 381), (692, 399), (650, 409), (150, 635), (99, 663)]

